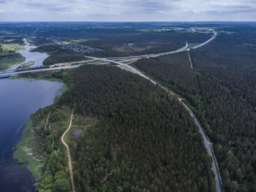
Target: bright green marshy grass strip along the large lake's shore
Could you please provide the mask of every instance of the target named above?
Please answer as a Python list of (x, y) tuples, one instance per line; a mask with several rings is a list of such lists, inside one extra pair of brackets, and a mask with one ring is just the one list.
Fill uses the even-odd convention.
[(26, 162), (29, 163), (28, 169), (34, 176), (36, 180), (39, 180), (39, 177), (41, 175), (41, 169), (39, 160), (34, 158), (34, 155), (32, 153), (32, 147), (31, 142), (33, 138), (33, 132), (31, 129), (32, 121), (29, 120), (26, 123), (26, 128), (23, 130), (22, 139), (17, 145), (17, 150), (15, 153), (13, 153), (14, 158), (18, 159), (18, 162), (20, 164), (24, 164)]

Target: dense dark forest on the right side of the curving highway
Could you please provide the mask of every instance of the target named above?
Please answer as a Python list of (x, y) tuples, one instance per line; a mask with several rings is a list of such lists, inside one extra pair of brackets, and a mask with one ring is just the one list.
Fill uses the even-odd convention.
[[(214, 142), (225, 191), (256, 191), (255, 28), (219, 28), (198, 50), (135, 66), (187, 99)], [(252, 44), (254, 43), (254, 44)]]

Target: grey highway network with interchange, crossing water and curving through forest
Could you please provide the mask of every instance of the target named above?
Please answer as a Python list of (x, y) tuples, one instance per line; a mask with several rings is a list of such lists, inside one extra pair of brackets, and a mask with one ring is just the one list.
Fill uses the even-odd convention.
[[(86, 63), (86, 61), (83, 61), (83, 62), (86, 64), (116, 64), (121, 69), (127, 70), (128, 72), (138, 74), (141, 77), (144, 77), (147, 80), (150, 80), (155, 85), (159, 85), (161, 88), (165, 89), (165, 91), (170, 93), (170, 95), (176, 97), (176, 99), (178, 99), (178, 101), (187, 109), (189, 114), (195, 120), (195, 124), (199, 128), (200, 134), (202, 134), (204, 145), (206, 146), (206, 150), (207, 150), (208, 154), (211, 156), (211, 158), (213, 159), (211, 169), (213, 170), (213, 172), (215, 174), (217, 191), (222, 192), (223, 191), (222, 180), (221, 180), (221, 177), (219, 174), (219, 167), (218, 167), (218, 164), (216, 161), (216, 157), (214, 155), (213, 147), (211, 146), (211, 142), (208, 139), (206, 132), (203, 129), (203, 126), (201, 126), (199, 120), (196, 118), (196, 116), (192, 112), (192, 110), (190, 110), (189, 107), (186, 104), (184, 104), (184, 102), (182, 101), (181, 98), (179, 98), (176, 94), (173, 94), (172, 92), (167, 90), (167, 88), (165, 88), (164, 86), (159, 84), (159, 82), (152, 80), (150, 77), (146, 76), (146, 74), (143, 74), (143, 72), (140, 72), (138, 69), (135, 69), (133, 66), (130, 66), (129, 64), (124, 63), (127, 61), (131, 61), (131, 63), (132, 63), (134, 61), (137, 61), (140, 58), (155, 58), (155, 57), (159, 57), (162, 55), (180, 53), (183, 51), (188, 51), (190, 49), (197, 49), (199, 47), (203, 47), (204, 45), (207, 45), (209, 42), (211, 42), (212, 40), (214, 40), (217, 37), (217, 32), (214, 31), (213, 29), (210, 29), (210, 30), (214, 32), (213, 37), (211, 37), (211, 39), (208, 39), (206, 42), (203, 42), (200, 45), (197, 45), (195, 47), (189, 47), (188, 43), (186, 42), (186, 45), (184, 47), (181, 47), (178, 50), (174, 50), (174, 51), (170, 51), (170, 52), (166, 52), (166, 53), (157, 53), (157, 54), (149, 54), (149, 55), (135, 55), (135, 56), (116, 57), (116, 58), (97, 58), (97, 57), (86, 56), (87, 58), (91, 58), (91, 60), (89, 60), (89, 62), (91, 62), (91, 61), (95, 61), (95, 62), (94, 63), (88, 63), (88, 61), (87, 61), (87, 63)], [(31, 73), (31, 72), (47, 72), (47, 71), (60, 70), (60, 69), (73, 69), (73, 68), (77, 68), (77, 67), (81, 66), (82, 64), (80, 64), (80, 63), (81, 63), (81, 61), (75, 61), (72, 63), (73, 65), (70, 65), (70, 63), (62, 63), (61, 65), (65, 65), (65, 66), (56, 66), (56, 67), (47, 68), (47, 69), (34, 69), (34, 70), (28, 70), (28, 71), (22, 71), (22, 72), (2, 72), (2, 73), (0, 72), (0, 78), (1, 77), (10, 77), (12, 75), (17, 75), (17, 74), (26, 74), (26, 73)], [(77, 65), (74, 65), (74, 64), (77, 64)]]

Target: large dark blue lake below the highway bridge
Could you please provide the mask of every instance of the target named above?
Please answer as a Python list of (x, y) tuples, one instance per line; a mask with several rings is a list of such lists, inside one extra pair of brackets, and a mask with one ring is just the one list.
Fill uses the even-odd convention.
[(53, 104), (63, 83), (45, 80), (0, 80), (0, 191), (34, 191), (25, 164), (12, 158), (29, 115)]

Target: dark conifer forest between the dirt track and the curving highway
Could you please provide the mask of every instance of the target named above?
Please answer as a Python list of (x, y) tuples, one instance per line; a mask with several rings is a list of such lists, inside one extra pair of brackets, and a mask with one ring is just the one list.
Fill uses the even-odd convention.
[(76, 191), (215, 191), (197, 126), (162, 88), (113, 66), (69, 82), (59, 105), (99, 120), (70, 146)]

